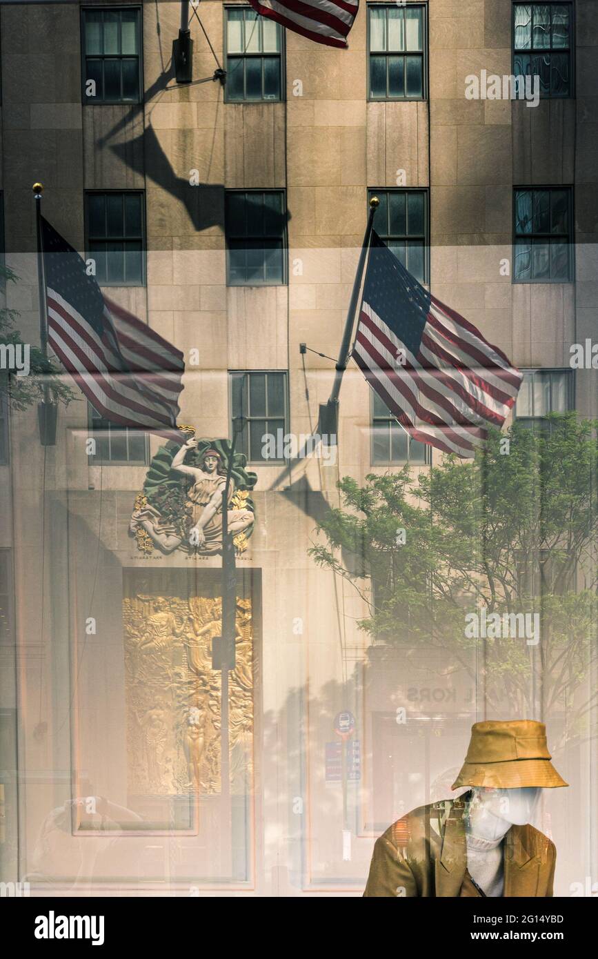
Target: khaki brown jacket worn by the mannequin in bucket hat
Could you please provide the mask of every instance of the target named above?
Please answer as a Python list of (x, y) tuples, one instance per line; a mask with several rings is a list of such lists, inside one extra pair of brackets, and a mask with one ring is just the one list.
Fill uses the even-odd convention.
[[(468, 794), (422, 806), (377, 840), (364, 896), (458, 897), (467, 868), (463, 810)], [(557, 852), (533, 826), (504, 838), (504, 896), (551, 897)]]

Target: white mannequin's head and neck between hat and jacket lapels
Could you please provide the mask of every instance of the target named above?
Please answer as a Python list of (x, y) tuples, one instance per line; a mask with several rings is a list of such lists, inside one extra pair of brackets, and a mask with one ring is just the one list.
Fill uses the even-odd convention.
[(467, 869), (474, 885), (485, 896), (504, 895), (503, 839), (512, 826), (529, 823), (539, 799), (539, 786), (473, 786), (463, 817)]

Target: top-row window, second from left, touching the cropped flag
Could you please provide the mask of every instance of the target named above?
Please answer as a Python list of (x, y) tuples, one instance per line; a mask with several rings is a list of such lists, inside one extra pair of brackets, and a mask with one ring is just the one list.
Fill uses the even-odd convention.
[(226, 100), (282, 100), (283, 31), (250, 7), (226, 8)]

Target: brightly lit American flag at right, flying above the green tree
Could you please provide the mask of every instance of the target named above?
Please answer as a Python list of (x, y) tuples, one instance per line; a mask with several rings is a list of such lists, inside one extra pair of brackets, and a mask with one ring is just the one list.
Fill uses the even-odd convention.
[(500, 428), (522, 376), (427, 292), (373, 233), (353, 357), (406, 433), (471, 457)]

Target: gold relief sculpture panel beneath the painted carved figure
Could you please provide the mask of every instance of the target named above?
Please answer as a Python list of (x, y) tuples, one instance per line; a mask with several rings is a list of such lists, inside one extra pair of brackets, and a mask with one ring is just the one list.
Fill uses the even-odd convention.
[[(212, 640), (219, 596), (123, 600), (127, 683), (128, 790), (132, 795), (220, 791), (220, 673)], [(237, 601), (237, 665), (229, 679), (231, 790), (252, 776), (253, 633), (251, 600)]]

